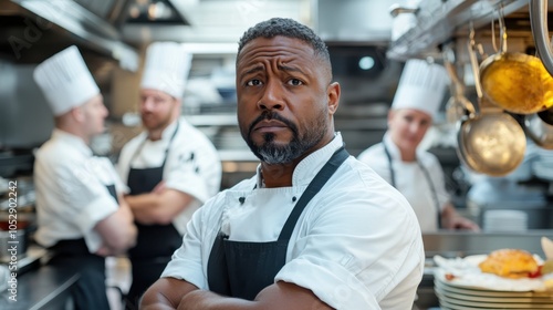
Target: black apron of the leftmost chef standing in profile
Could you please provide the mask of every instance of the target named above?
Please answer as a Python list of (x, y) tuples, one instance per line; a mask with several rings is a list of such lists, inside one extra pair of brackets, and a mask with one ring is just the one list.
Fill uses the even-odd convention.
[[(118, 204), (115, 186), (106, 186)], [(109, 310), (105, 286), (105, 258), (91, 254), (84, 238), (60, 240), (53, 247), (48, 265), (76, 268), (80, 278), (71, 296), (75, 310)]]

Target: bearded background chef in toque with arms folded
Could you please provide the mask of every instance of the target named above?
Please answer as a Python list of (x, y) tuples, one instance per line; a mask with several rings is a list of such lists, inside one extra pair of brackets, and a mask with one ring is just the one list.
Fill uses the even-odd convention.
[(118, 161), (118, 173), (131, 189), (125, 199), (138, 226), (136, 247), (128, 252), (131, 309), (138, 308), (137, 299), (182, 244), (192, 213), (220, 188), (221, 163), (215, 146), (180, 117), (190, 65), (191, 55), (178, 43), (148, 46), (139, 94), (146, 131), (123, 147)]

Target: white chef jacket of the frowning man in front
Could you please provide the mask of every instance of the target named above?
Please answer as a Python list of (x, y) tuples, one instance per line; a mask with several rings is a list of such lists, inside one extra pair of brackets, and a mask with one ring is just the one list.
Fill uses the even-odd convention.
[[(342, 144), (337, 134), (304, 158), (292, 187), (260, 188), (258, 168), (254, 177), (208, 200), (187, 225), (184, 245), (161, 277), (208, 289), (207, 264), (221, 226), (230, 240), (276, 240), (294, 202)], [(335, 309), (411, 309), (424, 260), (420, 229), (407, 200), (351, 156), (303, 210), (286, 265), (274, 280), (307, 288)]]

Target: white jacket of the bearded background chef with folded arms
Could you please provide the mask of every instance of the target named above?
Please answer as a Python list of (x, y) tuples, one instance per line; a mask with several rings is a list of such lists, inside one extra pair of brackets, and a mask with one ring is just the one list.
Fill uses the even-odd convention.
[[(221, 162), (213, 144), (202, 132), (191, 126), (182, 117), (178, 121), (178, 133), (171, 142), (164, 167), (164, 180), (167, 188), (186, 193), (196, 198), (195, 203), (173, 220), (175, 228), (180, 234), (184, 234), (186, 223), (190, 219), (191, 214), (209, 197), (219, 192)], [(147, 140), (147, 133), (143, 132), (125, 144), (117, 163), (117, 172), (125, 184), (128, 184), (129, 167), (150, 168), (161, 166), (165, 149), (169, 145), (169, 140), (176, 126), (177, 122), (167, 126), (158, 141)], [(143, 142), (144, 146), (137, 153)], [(137, 153), (136, 157), (134, 157), (135, 153)], [(132, 163), (129, 163), (131, 161)]]

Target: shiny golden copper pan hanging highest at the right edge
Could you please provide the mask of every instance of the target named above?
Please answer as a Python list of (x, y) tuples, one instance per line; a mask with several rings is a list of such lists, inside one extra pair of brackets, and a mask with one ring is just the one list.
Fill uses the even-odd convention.
[(500, 50), (480, 65), (484, 96), (517, 114), (532, 114), (553, 107), (553, 76), (539, 58), (507, 52), (507, 31), (502, 14), (499, 16)]

